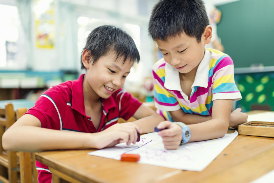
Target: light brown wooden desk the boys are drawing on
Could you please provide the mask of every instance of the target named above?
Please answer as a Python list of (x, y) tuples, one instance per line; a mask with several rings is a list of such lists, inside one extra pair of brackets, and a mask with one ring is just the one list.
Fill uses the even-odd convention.
[(274, 169), (274, 138), (258, 136), (238, 135), (202, 172), (121, 162), (90, 156), (91, 151), (40, 152), (36, 159), (49, 166), (53, 181), (58, 176), (72, 183), (249, 183)]

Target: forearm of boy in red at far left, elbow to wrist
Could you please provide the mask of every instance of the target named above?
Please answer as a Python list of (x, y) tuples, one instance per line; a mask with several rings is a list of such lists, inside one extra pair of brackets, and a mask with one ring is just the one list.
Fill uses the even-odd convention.
[(38, 152), (55, 149), (92, 148), (92, 134), (16, 126), (2, 138), (3, 148), (14, 151)]

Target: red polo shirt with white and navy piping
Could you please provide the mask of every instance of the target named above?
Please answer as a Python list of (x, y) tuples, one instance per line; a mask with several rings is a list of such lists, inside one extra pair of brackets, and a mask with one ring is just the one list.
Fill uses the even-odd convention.
[[(83, 77), (66, 81), (51, 87), (35, 102), (26, 114), (37, 117), (42, 128), (75, 132), (100, 132), (113, 124), (118, 118), (128, 120), (142, 104), (130, 93), (119, 89), (109, 98), (102, 98), (101, 121), (98, 130), (90, 116), (85, 114)], [(39, 183), (51, 183), (51, 172), (48, 166), (36, 161)]]

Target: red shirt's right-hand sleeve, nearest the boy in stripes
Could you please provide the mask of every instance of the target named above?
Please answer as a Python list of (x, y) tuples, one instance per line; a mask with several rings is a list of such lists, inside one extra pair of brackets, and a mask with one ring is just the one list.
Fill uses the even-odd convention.
[(133, 97), (129, 92), (120, 89), (117, 94), (119, 101), (119, 117), (128, 120), (136, 110), (142, 105), (137, 98)]

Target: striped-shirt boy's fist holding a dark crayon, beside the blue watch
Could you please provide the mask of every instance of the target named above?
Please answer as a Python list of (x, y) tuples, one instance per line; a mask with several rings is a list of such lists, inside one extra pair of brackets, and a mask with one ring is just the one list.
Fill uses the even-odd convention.
[(166, 149), (178, 149), (182, 141), (182, 127), (170, 121), (163, 121), (158, 124), (157, 128), (164, 129), (158, 132), (163, 138), (163, 144)]

